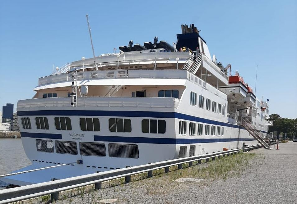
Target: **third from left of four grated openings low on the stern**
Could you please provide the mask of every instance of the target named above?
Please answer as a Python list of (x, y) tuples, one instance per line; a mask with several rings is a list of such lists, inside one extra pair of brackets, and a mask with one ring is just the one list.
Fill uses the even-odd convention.
[(79, 150), (81, 155), (88, 156), (106, 156), (106, 149), (104, 143), (79, 143)]

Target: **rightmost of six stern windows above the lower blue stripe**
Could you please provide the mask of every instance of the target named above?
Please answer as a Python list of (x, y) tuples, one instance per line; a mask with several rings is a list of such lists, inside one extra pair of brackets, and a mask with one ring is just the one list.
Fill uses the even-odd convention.
[(142, 132), (143, 133), (158, 133), (164, 134), (166, 132), (165, 120), (142, 120)]

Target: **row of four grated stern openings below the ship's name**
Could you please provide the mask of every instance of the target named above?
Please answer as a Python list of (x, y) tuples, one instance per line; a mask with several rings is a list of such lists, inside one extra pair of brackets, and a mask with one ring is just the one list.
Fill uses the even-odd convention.
[[(77, 143), (70, 141), (36, 139), (36, 148), (38, 152), (56, 152), (59, 154), (78, 154)], [(80, 142), (79, 150), (81, 155), (86, 156), (106, 156), (104, 143)], [(139, 158), (138, 145), (135, 144), (108, 144), (108, 155), (110, 157)]]

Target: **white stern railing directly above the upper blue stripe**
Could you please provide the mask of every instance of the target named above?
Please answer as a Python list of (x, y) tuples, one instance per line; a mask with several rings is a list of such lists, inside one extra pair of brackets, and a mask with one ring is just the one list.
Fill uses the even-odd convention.
[[(178, 108), (178, 98), (163, 97), (77, 97), (77, 107), (142, 107)], [(21, 100), (18, 108), (71, 107), (71, 97), (34, 98)]]

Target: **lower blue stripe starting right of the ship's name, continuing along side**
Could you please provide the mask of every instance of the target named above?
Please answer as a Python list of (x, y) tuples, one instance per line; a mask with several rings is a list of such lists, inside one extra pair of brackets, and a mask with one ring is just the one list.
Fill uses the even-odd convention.
[(254, 138), (144, 138), (94, 135), (94, 141), (121, 142), (121, 143), (148, 143), (148, 144), (192, 144), (192, 143), (219, 143), (252, 141)]

